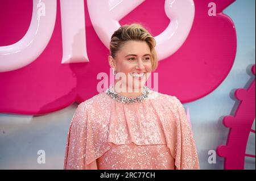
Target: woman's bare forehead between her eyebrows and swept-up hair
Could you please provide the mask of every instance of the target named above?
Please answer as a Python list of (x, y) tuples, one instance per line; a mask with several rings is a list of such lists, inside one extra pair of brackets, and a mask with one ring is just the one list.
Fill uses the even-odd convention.
[(127, 54), (137, 54), (143, 56), (144, 54), (150, 54), (150, 48), (146, 41), (127, 41), (119, 50), (120, 56), (126, 56)]

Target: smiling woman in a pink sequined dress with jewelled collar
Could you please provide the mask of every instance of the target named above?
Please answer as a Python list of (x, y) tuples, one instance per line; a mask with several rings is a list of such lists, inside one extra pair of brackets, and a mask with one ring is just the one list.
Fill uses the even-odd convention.
[(158, 65), (154, 37), (140, 24), (120, 27), (109, 65), (115, 84), (79, 104), (64, 169), (199, 169), (183, 105), (144, 85)]

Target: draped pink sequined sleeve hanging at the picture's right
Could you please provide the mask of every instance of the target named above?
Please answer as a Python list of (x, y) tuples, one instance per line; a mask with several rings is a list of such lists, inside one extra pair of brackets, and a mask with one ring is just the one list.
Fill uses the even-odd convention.
[(175, 99), (177, 111), (174, 129), (176, 137), (173, 150), (175, 167), (177, 170), (200, 169), (195, 140), (187, 116), (185, 115), (185, 109), (180, 100), (176, 97)]

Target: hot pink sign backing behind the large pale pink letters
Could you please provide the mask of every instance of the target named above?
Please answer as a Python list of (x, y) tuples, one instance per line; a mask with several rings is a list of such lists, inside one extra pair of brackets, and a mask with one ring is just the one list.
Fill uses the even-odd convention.
[[(153, 36), (167, 27), (164, 1), (146, 1), (119, 23), (141, 22)], [(237, 39), (232, 20), (222, 11), (234, 2), (195, 0), (195, 20), (182, 47), (159, 62), (159, 92), (191, 102), (212, 92), (228, 75), (236, 57)], [(215, 2), (217, 16), (209, 16)], [(21, 39), (30, 25), (32, 1), (0, 1), (0, 46)], [(0, 73), (0, 112), (40, 115), (61, 110), (98, 94), (97, 74), (109, 74), (109, 50), (90, 22), (85, 1), (86, 48), (89, 63), (61, 64), (60, 2), (55, 29), (43, 53), (31, 64)], [(11, 11), (10, 11), (11, 10)], [(17, 18), (17, 15), (19, 18)], [(103, 17), (102, 17), (103, 18)], [(1, 60), (3, 61), (3, 60)]]

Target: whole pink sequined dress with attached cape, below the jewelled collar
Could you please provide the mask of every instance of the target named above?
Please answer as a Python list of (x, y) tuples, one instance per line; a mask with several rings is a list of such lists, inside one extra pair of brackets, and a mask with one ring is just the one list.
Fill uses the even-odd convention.
[(79, 104), (69, 126), (64, 169), (200, 169), (183, 104), (150, 90), (125, 104), (106, 91)]

